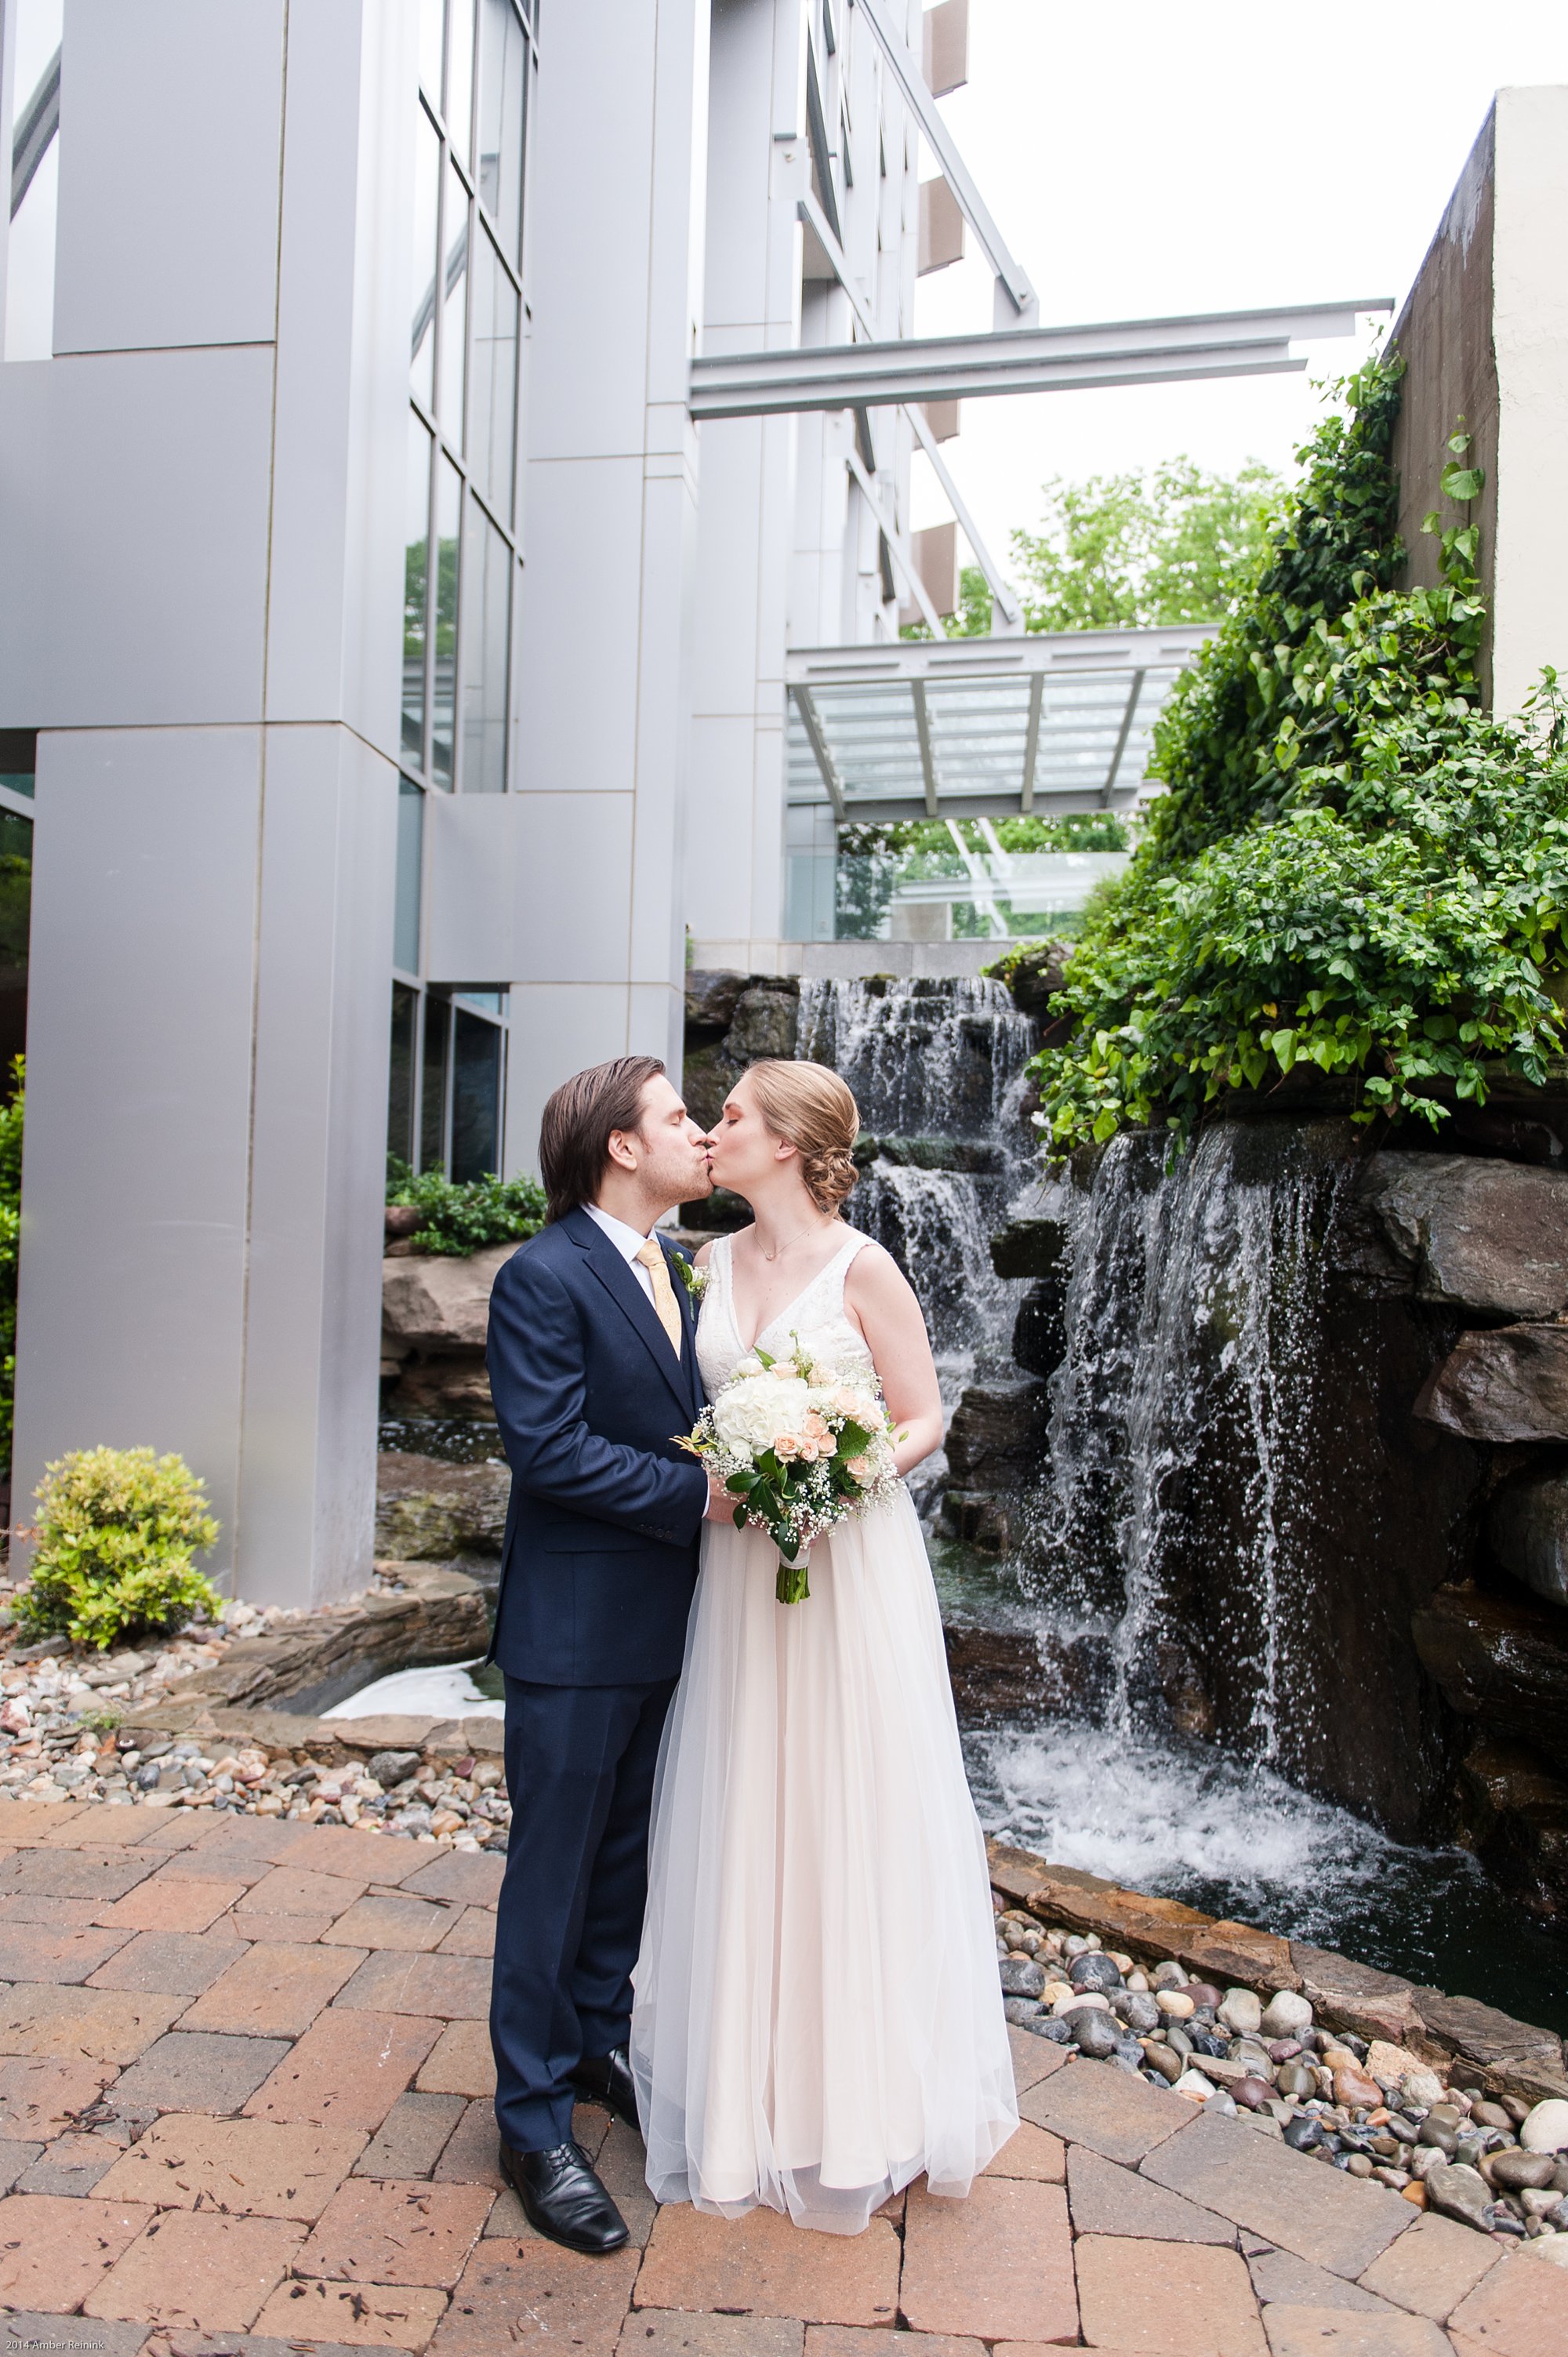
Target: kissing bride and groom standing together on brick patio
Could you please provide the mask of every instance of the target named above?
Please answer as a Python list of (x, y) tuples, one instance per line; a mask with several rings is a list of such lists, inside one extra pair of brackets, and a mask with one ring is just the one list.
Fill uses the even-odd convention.
[[(490, 1294), (512, 1466), (495, 2119), (531, 2225), (573, 2251), (627, 2242), (578, 2100), (644, 2135), (660, 2201), (830, 2234), (922, 2171), (967, 2194), (1019, 2124), (910, 1494), (816, 1539), (811, 1596), (783, 1605), (778, 1549), (679, 1445), (792, 1336), (875, 1369), (901, 1475), (941, 1445), (920, 1303), (839, 1216), (856, 1134), (813, 1063), (755, 1063), (712, 1138), (653, 1056), (578, 1072), (540, 1129), (549, 1223)], [(714, 1186), (752, 1226), (693, 1266), (658, 1221)]]

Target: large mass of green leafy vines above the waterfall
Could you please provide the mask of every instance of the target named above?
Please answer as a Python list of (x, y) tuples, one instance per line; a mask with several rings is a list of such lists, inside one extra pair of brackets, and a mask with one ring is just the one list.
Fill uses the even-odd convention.
[[(1556, 684), (1521, 719), (1481, 709), (1474, 526), (1441, 535), (1441, 587), (1389, 587), (1398, 368), (1344, 391), (1257, 582), (1160, 717), (1167, 792), (1054, 999), (1075, 1030), (1033, 1072), (1059, 1153), (1122, 1124), (1184, 1138), (1221, 1091), (1299, 1063), (1353, 1080), (1361, 1122), (1436, 1127), (1443, 1094), (1483, 1101), (1497, 1068), (1542, 1084), (1561, 1054)], [(1462, 504), (1481, 490), (1464, 443), (1443, 471)]]

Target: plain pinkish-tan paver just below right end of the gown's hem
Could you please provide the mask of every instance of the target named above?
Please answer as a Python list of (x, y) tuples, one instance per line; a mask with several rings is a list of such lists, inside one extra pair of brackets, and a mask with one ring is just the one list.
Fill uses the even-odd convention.
[(967, 2201), (910, 2187), (901, 2308), (917, 2333), (1075, 2338), (1073, 2232), (1061, 2187), (976, 2178)]

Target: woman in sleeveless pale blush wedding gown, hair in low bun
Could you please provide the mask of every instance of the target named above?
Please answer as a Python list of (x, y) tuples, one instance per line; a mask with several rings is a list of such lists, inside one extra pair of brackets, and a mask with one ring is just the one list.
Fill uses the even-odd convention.
[[(710, 1398), (790, 1336), (875, 1365), (901, 1473), (941, 1445), (920, 1303), (839, 1219), (856, 1101), (755, 1063), (712, 1141), (755, 1226), (698, 1254)], [(986, 1846), (964, 1784), (931, 1572), (910, 1504), (811, 1549), (811, 1596), (714, 1492), (653, 1796), (632, 2069), (660, 2201), (858, 2234), (927, 2171), (967, 2194), (1019, 2124)]]

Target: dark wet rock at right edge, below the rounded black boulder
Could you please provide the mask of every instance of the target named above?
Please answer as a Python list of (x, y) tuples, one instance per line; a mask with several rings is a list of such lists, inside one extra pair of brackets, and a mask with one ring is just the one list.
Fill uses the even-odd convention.
[(1568, 1619), (1561, 1612), (1443, 1586), (1412, 1617), (1412, 1633), (1450, 1709), (1568, 1770)]

